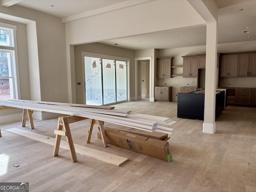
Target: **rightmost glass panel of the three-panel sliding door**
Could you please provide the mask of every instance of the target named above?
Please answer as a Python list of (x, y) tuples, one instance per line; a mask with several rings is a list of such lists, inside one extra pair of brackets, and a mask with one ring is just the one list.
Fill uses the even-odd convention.
[(126, 61), (116, 61), (116, 101), (127, 100)]

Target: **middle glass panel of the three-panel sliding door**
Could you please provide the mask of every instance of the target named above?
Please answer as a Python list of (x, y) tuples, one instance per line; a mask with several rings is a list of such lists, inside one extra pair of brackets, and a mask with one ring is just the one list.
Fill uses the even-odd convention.
[(116, 102), (115, 60), (102, 59), (103, 104)]

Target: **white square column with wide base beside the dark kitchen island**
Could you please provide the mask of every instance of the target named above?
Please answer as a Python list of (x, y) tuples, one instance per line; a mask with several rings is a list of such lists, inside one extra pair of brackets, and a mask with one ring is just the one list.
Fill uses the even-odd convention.
[(217, 22), (207, 23), (206, 30), (206, 69), (204, 99), (204, 133), (215, 133), (215, 98), (217, 74)]

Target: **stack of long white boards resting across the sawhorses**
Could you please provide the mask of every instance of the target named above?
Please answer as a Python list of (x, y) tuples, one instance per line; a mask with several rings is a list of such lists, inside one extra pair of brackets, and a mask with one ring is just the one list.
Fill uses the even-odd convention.
[(101, 120), (122, 126), (128, 126), (148, 132), (158, 131), (172, 134), (172, 124), (176, 123), (170, 118), (132, 113), (130, 110), (118, 110), (108, 106), (88, 106), (80, 104), (65, 104), (55, 102), (36, 102), (29, 100), (0, 100), (0, 105), (52, 112), (66, 115), (80, 116), (95, 120)]

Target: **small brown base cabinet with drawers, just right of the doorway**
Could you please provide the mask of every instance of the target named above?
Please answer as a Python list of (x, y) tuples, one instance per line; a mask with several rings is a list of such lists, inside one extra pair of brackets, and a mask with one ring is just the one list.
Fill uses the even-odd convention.
[(160, 87), (156, 86), (154, 89), (155, 100), (156, 101), (172, 101), (172, 87)]

